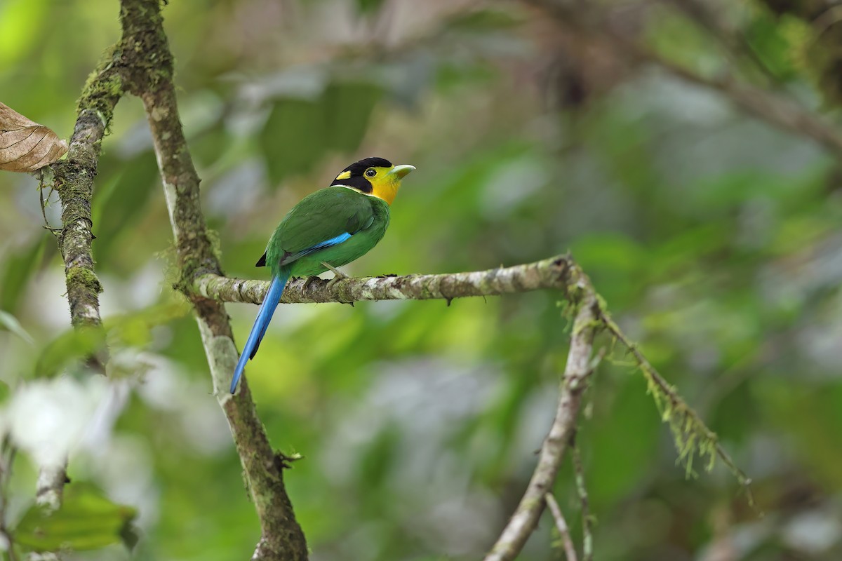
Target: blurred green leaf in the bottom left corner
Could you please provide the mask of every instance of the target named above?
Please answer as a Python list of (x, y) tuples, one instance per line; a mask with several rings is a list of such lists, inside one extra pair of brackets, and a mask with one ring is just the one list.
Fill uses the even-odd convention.
[(131, 521), (137, 512), (131, 506), (115, 505), (102, 491), (87, 483), (67, 486), (57, 511), (34, 505), (13, 531), (15, 542), (34, 551), (72, 549), (83, 551), (126, 543), (135, 536)]

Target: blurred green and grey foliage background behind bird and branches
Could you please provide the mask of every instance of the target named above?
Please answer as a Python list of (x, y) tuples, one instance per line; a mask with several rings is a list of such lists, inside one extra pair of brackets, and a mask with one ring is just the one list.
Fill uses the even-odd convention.
[[(833, 116), (804, 55), (807, 24), (761, 2), (704, 4), (753, 56), (729, 55), (676, 3), (597, 8), (693, 71), (733, 72)], [(69, 137), (88, 72), (119, 38), (117, 13), (116, 2), (2, 0), (3, 103)], [(757, 511), (721, 467), (687, 478), (642, 377), (614, 352), (578, 437), (597, 558), (842, 558), (834, 155), (514, 1), (195, 0), (164, 14), (227, 274), (264, 278), (253, 262), (274, 225), (350, 161), (412, 163), (386, 238), (349, 273), (572, 251), (754, 479)], [(8, 521), (33, 498), (45, 432), (72, 442), (74, 481), (139, 512), (133, 553), (72, 558), (244, 558), (257, 519), (195, 322), (170, 288), (171, 230), (138, 100), (120, 101), (103, 151), (93, 251), (108, 384), (61, 376), (72, 355), (61, 256), (37, 180), (0, 174), (0, 377), (22, 389), (59, 374), (31, 406), (7, 399), (7, 424), (35, 434), (14, 465)], [(53, 195), (54, 227), (58, 206)], [(227, 310), (242, 342), (257, 308)], [(248, 379), (274, 447), (304, 456), (286, 484), (312, 558), (478, 558), (552, 420), (563, 312), (552, 293), (281, 306)], [(556, 491), (578, 538), (572, 479), (566, 465)], [(544, 518), (521, 558), (561, 559), (555, 542)]]

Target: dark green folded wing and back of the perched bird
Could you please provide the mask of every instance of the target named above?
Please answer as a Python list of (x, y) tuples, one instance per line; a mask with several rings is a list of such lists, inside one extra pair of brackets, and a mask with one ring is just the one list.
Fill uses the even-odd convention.
[(275, 260), (281, 265), (293, 262), (333, 245), (330, 242), (338, 237), (365, 230), (373, 221), (374, 209), (364, 194), (344, 187), (323, 188), (302, 198), (280, 221), (257, 266)]

